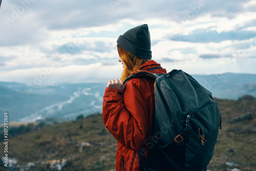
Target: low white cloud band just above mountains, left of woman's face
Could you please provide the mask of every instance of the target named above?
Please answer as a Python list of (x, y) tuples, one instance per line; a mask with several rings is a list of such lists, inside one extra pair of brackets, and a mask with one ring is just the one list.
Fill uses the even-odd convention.
[(16, 81), (38, 87), (47, 84), (107, 82), (112, 78), (120, 78), (121, 65), (102, 65), (100, 62), (89, 65), (48, 66), (44, 68), (17, 69), (3, 71), (1, 81)]

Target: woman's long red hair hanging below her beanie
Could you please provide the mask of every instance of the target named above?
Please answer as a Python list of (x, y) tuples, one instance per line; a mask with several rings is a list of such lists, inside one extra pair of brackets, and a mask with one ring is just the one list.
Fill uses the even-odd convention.
[(120, 58), (124, 62), (123, 72), (120, 78), (122, 81), (124, 81), (125, 78), (127, 78), (133, 72), (139, 71), (137, 69), (142, 65), (142, 63), (147, 61), (147, 59), (141, 59), (138, 56), (125, 51), (119, 45), (117, 45), (117, 51)]

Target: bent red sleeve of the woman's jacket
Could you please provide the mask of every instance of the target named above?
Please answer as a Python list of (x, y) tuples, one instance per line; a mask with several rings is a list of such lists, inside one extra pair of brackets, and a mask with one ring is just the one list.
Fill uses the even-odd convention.
[(144, 145), (150, 129), (148, 116), (150, 109), (146, 99), (151, 98), (147, 96), (152, 95), (143, 93), (138, 82), (138, 79), (127, 82), (125, 92), (106, 88), (103, 97), (105, 126), (124, 147), (132, 150), (138, 150)]

